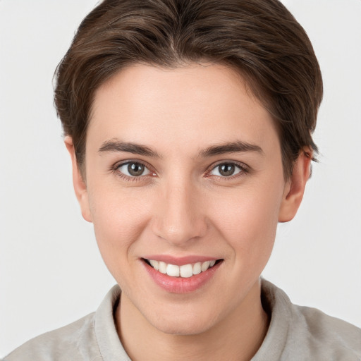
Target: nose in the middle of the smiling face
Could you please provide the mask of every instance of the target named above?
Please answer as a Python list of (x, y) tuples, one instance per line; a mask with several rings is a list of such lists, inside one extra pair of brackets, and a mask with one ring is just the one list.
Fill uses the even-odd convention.
[(171, 245), (187, 246), (207, 232), (202, 194), (185, 182), (169, 183), (157, 197), (152, 231)]

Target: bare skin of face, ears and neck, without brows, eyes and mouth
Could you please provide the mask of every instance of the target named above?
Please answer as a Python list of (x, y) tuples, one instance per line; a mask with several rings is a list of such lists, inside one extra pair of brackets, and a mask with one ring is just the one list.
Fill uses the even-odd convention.
[[(261, 150), (202, 152), (239, 141)], [(114, 142), (159, 157), (114, 150)], [(234, 71), (206, 63), (123, 69), (95, 94), (84, 174), (71, 137), (66, 147), (82, 215), (122, 289), (116, 326), (132, 360), (250, 360), (269, 322), (259, 276), (278, 222), (297, 212), (310, 157), (300, 152), (285, 180), (269, 113)], [(147, 166), (142, 176), (124, 177), (119, 164), (130, 160)], [(224, 176), (217, 166), (230, 163), (235, 173)], [(145, 272), (145, 255), (223, 262), (201, 288), (170, 293)]]

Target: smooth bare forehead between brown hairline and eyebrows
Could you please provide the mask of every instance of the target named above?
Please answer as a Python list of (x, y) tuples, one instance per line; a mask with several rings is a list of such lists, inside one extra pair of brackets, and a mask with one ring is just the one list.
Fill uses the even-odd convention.
[(114, 75), (95, 92), (87, 138), (100, 144), (114, 137), (182, 152), (185, 144), (278, 142), (270, 114), (245, 81), (218, 64), (134, 65)]

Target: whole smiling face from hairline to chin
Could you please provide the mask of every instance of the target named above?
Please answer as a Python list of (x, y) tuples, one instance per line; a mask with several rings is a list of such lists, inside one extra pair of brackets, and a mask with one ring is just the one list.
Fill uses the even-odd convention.
[(298, 204), (271, 116), (231, 69), (114, 75), (95, 94), (85, 159), (75, 191), (122, 307), (197, 334), (260, 304), (276, 225)]

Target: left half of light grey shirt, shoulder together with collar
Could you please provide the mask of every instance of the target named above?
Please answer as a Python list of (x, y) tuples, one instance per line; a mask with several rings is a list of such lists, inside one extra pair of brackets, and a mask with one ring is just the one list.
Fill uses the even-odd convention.
[(121, 289), (114, 286), (97, 312), (27, 341), (3, 361), (130, 360), (119, 341), (114, 309)]

